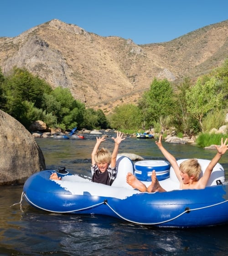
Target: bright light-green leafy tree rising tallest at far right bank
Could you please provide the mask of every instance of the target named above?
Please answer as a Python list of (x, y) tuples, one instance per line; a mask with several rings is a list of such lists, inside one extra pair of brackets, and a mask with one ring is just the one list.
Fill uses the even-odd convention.
[(214, 77), (204, 85), (198, 79), (196, 84), (186, 91), (187, 111), (197, 119), (202, 128), (202, 118), (211, 110), (219, 110), (223, 105), (223, 97)]

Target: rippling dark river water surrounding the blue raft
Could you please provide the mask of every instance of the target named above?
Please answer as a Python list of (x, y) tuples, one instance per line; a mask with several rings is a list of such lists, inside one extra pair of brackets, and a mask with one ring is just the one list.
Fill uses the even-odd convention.
[[(113, 134), (102, 146), (112, 150)], [(90, 155), (95, 135), (85, 139), (36, 139), (47, 169), (91, 175)], [(212, 159), (213, 150), (192, 145), (166, 144), (177, 159)], [(154, 139), (126, 138), (119, 153), (134, 153), (147, 160), (165, 160)], [(220, 164), (228, 180), (228, 154)], [(23, 186), (0, 187), (0, 256), (228, 256), (228, 225), (200, 229), (167, 229), (130, 224), (106, 216), (55, 214), (37, 210), (25, 200)], [(208, 195), (209, 196), (209, 195)], [(10, 207), (11, 206), (11, 207)]]

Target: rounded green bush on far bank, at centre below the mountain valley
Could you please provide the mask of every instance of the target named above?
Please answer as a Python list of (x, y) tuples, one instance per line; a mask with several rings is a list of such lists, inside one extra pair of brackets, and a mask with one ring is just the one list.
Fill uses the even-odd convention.
[(119, 107), (115, 107), (110, 123), (111, 127), (114, 129), (138, 130), (142, 123), (140, 109), (133, 104), (124, 104)]

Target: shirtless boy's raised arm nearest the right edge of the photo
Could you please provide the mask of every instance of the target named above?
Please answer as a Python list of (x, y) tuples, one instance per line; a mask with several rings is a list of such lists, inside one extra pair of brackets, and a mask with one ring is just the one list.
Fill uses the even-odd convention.
[(200, 188), (204, 188), (207, 186), (207, 181), (209, 180), (212, 170), (215, 167), (215, 165), (218, 163), (222, 155), (224, 155), (228, 149), (228, 144), (227, 144), (228, 139), (225, 139), (223, 143), (223, 138), (221, 139), (221, 146), (215, 145), (217, 149), (217, 154), (214, 156), (214, 158), (211, 160), (209, 165), (207, 166), (202, 178), (200, 179), (199, 185)]

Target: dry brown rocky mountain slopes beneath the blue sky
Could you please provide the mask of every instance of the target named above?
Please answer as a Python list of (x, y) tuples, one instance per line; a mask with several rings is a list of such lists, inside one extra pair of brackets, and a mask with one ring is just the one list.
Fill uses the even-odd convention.
[(136, 103), (152, 80), (196, 80), (228, 58), (228, 20), (164, 43), (137, 45), (101, 37), (73, 24), (51, 20), (17, 37), (0, 37), (0, 66), (7, 74), (25, 67), (52, 88), (69, 88), (87, 107), (108, 114)]

